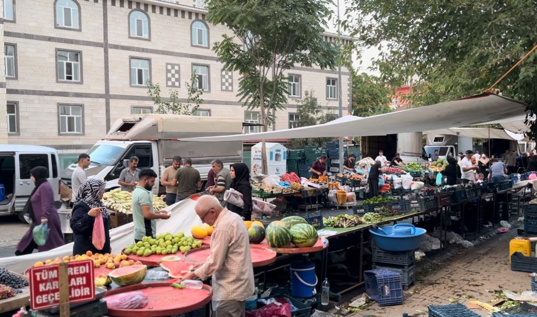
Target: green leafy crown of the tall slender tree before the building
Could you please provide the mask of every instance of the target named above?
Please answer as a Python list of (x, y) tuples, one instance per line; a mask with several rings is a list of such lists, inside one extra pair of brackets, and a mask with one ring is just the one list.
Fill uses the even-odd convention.
[(207, 20), (224, 24), (213, 50), (224, 68), (238, 71), (238, 97), (249, 109), (259, 108), (266, 131), (273, 110), (284, 108), (287, 78), (297, 65), (334, 69), (338, 50), (323, 41), (327, 0), (209, 0)]

